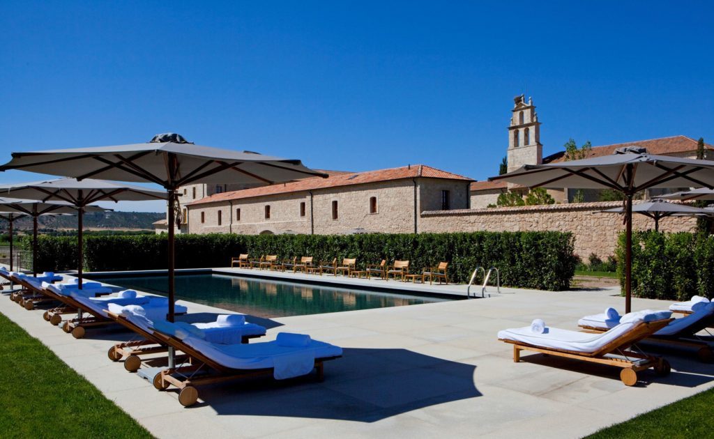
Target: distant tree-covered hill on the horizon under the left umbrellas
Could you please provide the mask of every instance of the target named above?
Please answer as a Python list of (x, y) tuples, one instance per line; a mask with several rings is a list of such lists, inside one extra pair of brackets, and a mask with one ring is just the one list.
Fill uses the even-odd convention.
[[(84, 228), (106, 228), (106, 229), (122, 229), (122, 228), (144, 228), (153, 229), (152, 223), (166, 218), (166, 213), (153, 212), (97, 212), (84, 214)], [(43, 229), (60, 229), (60, 228), (77, 228), (76, 216), (41, 216), (39, 217), (39, 228)], [(6, 228), (6, 221), (0, 224), (2, 228)], [(15, 221), (14, 227), (17, 230), (32, 230), (32, 218), (24, 217)]]

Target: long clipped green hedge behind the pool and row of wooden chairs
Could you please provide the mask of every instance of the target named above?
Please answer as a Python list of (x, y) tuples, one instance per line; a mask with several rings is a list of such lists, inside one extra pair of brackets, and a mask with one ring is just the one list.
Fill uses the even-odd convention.
[[(76, 266), (76, 240), (71, 240), (43, 236), (39, 268)], [(27, 248), (29, 244), (25, 242)], [(559, 232), (176, 236), (176, 268), (224, 267), (239, 253), (314, 256), (316, 261), (357, 258), (360, 267), (382, 258), (406, 259), (413, 273), (448, 261), (456, 283), (468, 282), (476, 266), (496, 266), (504, 286), (555, 291), (569, 288), (576, 263), (573, 236)], [(166, 259), (165, 235), (88, 236), (84, 241), (84, 266), (89, 271), (161, 269), (166, 268)]]

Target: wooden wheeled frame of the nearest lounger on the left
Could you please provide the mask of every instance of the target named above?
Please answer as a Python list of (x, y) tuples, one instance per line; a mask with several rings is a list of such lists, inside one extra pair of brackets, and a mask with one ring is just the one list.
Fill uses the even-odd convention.
[[(196, 385), (221, 383), (228, 380), (236, 380), (239, 378), (251, 378), (257, 376), (273, 375), (272, 368), (266, 369), (232, 369), (226, 368), (211, 358), (206, 357), (203, 353), (198, 352), (186, 345), (178, 338), (169, 337), (162, 333), (154, 332), (154, 336), (161, 340), (162, 343), (179, 350), (188, 356), (188, 365), (181, 365), (172, 369), (164, 369), (154, 376), (154, 388), (157, 390), (166, 390), (170, 385), (174, 385), (179, 389), (178, 402), (183, 407), (188, 407), (196, 403), (198, 400), (198, 390)], [(317, 379), (323, 380), (324, 368), (323, 363), (328, 360), (340, 358), (341, 355), (326, 358), (316, 358), (315, 368), (317, 369)], [(209, 369), (207, 370), (206, 367)], [(197, 375), (198, 371), (206, 372)], [(174, 376), (176, 375), (176, 376)]]

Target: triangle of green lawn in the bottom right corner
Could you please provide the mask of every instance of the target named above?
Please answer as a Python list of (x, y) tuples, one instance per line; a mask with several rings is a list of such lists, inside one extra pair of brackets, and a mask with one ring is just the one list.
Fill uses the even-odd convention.
[(665, 405), (637, 418), (598, 431), (588, 438), (710, 438), (714, 390)]

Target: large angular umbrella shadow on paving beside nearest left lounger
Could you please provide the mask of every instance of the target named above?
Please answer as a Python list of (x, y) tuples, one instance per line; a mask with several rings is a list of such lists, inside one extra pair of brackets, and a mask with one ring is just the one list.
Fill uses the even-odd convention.
[[(218, 415), (264, 415), (371, 423), (418, 408), (481, 396), (476, 366), (406, 349), (346, 348), (314, 373), (276, 381), (252, 378), (198, 388)], [(171, 391), (171, 390), (169, 390)]]

